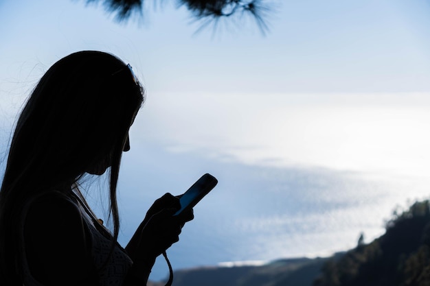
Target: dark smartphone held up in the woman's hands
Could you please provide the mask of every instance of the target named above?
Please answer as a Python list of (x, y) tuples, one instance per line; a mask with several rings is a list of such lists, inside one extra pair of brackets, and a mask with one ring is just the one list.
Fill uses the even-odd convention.
[(199, 180), (185, 191), (179, 202), (181, 202), (181, 209), (174, 213), (174, 215), (180, 215), (183, 211), (187, 211), (193, 208), (207, 193), (209, 193), (218, 184), (218, 180), (210, 174), (204, 174)]

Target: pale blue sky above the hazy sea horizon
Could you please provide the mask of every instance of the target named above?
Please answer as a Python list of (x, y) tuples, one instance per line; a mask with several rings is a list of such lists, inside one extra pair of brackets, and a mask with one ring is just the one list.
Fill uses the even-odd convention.
[(148, 8), (148, 19), (140, 23), (117, 25), (102, 7), (85, 8), (84, 1), (3, 1), (3, 60), (49, 65), (76, 49), (106, 49), (132, 62), (149, 91), (429, 90), (426, 1), (277, 6), (271, 30), (262, 37), (252, 23), (244, 29), (231, 25), (233, 32), (221, 29), (215, 36), (212, 29), (194, 35), (198, 26), (189, 25), (188, 12), (168, 5)]

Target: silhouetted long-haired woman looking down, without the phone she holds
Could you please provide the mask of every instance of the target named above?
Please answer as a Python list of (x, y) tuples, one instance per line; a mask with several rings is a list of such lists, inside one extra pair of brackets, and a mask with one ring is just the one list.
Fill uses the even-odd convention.
[[(146, 213), (126, 248), (116, 187), (128, 130), (144, 102), (129, 65), (80, 51), (41, 78), (16, 123), (0, 190), (0, 285), (146, 285), (156, 257), (179, 240), (185, 222), (166, 194)], [(113, 234), (79, 186), (109, 172)]]

